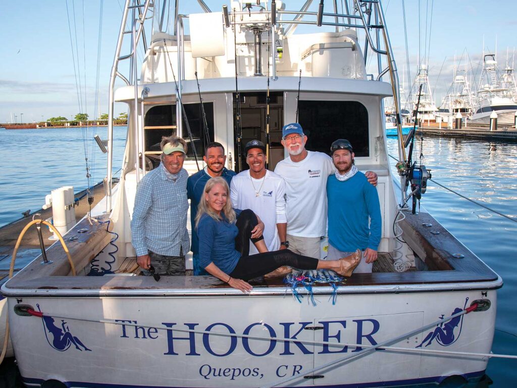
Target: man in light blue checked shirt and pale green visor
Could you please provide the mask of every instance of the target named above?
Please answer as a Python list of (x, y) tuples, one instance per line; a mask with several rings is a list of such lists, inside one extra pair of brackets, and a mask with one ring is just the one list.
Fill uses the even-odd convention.
[(185, 275), (187, 177), (183, 168), (187, 143), (177, 136), (162, 138), (161, 163), (145, 174), (136, 188), (131, 233), (136, 260), (150, 275)]

